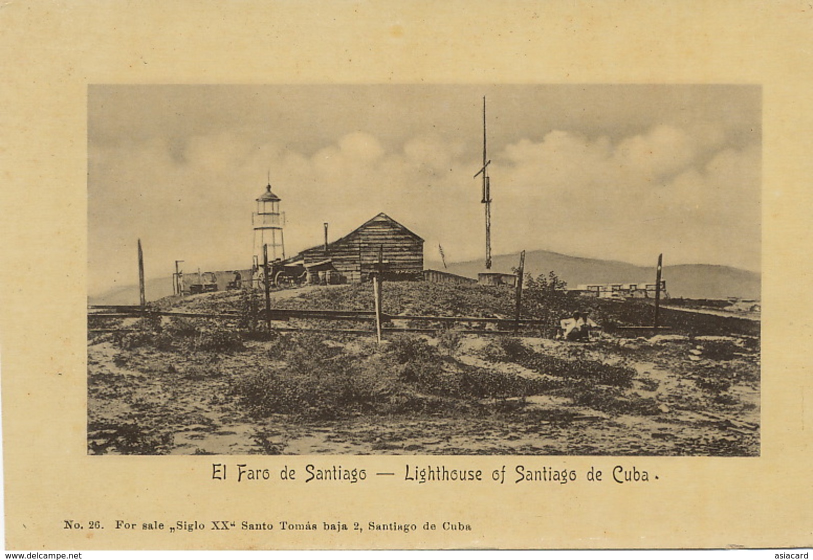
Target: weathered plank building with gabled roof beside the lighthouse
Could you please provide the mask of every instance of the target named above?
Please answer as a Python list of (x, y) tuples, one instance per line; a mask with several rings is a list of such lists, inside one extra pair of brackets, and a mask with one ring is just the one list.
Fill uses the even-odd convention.
[(318, 245), (288, 258), (302, 263), (308, 282), (365, 282), (376, 270), (379, 253), (386, 280), (421, 280), (424, 240), (383, 212), (333, 243)]

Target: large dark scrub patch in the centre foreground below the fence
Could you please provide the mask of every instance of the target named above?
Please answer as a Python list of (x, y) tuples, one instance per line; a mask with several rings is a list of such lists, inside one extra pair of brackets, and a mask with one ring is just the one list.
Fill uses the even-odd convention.
[(524, 397), (550, 389), (550, 381), (461, 364), (418, 336), (397, 336), (383, 347), (350, 352), (336, 341), (298, 333), (280, 336), (267, 350), (275, 360), (233, 381), (233, 392), (252, 415), (448, 413), (473, 399)]

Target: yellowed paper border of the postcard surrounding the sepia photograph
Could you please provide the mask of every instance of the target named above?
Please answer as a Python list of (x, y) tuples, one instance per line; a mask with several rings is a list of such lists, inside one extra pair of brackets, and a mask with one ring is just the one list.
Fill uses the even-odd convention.
[[(810, 546), (811, 12), (806, 2), (2, 7), (7, 548)], [(89, 92), (180, 84), (761, 89), (759, 454), (89, 454)], [(306, 482), (308, 465), (367, 477)], [(431, 466), (481, 471), (482, 480), (411, 480), (411, 468)], [(518, 466), (576, 480), (519, 484)], [(622, 481), (643, 471), (649, 480), (619, 484), (616, 468)], [(603, 480), (589, 480), (597, 470)]]

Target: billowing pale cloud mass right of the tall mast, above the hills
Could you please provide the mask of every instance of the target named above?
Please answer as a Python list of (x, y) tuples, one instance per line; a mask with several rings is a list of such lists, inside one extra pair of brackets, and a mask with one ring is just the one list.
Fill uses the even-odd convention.
[(758, 270), (759, 146), (726, 147), (719, 128), (700, 129), (659, 125), (615, 144), (554, 131), (507, 145), (492, 169), (495, 244), (633, 263), (668, 251), (673, 263)]

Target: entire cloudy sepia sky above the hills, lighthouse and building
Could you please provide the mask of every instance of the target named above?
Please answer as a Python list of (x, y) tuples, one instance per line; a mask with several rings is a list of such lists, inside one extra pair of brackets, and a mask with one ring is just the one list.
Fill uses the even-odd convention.
[(760, 269), (755, 85), (92, 85), (89, 295), (250, 267), (270, 179), (285, 252), (379, 212), (424, 258), (485, 258), (487, 99), (492, 252), (552, 250), (651, 265)]

